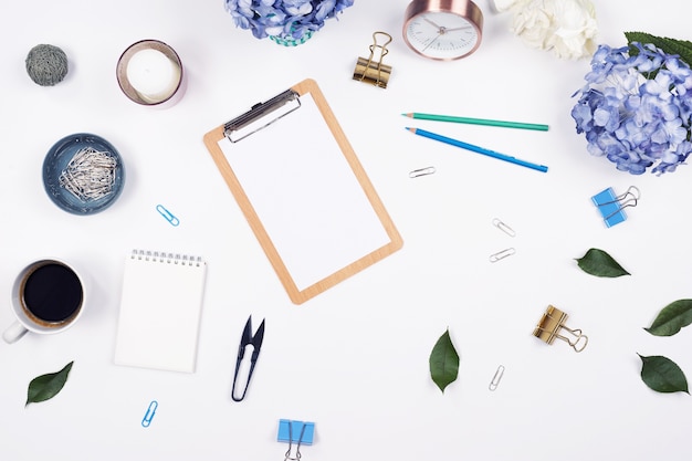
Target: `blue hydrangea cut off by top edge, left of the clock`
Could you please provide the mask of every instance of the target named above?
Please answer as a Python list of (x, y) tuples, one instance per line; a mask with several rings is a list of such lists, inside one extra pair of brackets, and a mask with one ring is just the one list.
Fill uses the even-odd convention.
[(224, 0), (237, 27), (258, 39), (301, 40), (324, 21), (354, 4), (354, 0)]

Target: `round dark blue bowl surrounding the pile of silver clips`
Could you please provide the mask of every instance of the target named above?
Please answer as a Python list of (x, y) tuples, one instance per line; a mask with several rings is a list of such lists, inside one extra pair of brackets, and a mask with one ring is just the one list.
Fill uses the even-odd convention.
[[(114, 170), (114, 181), (108, 187), (107, 193), (98, 198), (86, 199), (73, 193), (67, 187), (61, 184), (61, 176), (67, 169), (67, 164), (75, 154), (84, 148), (91, 147), (101, 153), (108, 153), (108, 157), (116, 163)], [(94, 171), (97, 167), (93, 167)], [(63, 178), (64, 179), (64, 178)], [(43, 186), (48, 196), (63, 210), (74, 214), (94, 214), (108, 208), (120, 196), (125, 184), (125, 167), (123, 159), (111, 143), (101, 136), (88, 133), (77, 133), (65, 136), (51, 147), (43, 160)]]

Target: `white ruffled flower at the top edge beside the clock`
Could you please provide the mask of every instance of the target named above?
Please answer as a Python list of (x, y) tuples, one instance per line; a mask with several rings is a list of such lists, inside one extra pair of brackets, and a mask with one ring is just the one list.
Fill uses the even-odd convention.
[(531, 46), (565, 59), (596, 51), (598, 24), (590, 0), (518, 0), (511, 11), (512, 32)]

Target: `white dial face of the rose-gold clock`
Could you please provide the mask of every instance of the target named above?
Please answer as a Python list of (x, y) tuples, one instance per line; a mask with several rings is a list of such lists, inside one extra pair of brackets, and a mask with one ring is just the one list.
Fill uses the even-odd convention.
[(403, 38), (419, 54), (434, 60), (455, 60), (471, 54), (481, 41), (479, 28), (459, 14), (428, 11), (411, 18)]

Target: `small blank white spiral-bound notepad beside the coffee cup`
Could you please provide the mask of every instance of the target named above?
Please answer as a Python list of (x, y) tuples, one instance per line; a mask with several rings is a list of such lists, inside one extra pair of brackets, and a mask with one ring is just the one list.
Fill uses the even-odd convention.
[(206, 273), (199, 256), (133, 251), (125, 260), (114, 362), (193, 373)]

